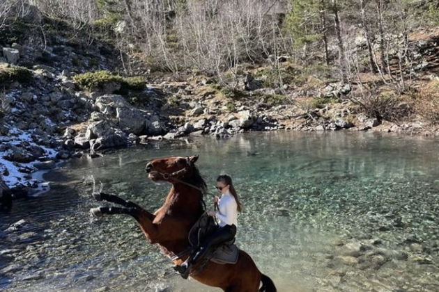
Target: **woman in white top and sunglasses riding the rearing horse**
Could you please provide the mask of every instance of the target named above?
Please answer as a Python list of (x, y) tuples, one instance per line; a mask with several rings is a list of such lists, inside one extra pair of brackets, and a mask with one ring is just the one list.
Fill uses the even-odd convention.
[(197, 263), (199, 259), (202, 259), (210, 251), (210, 248), (231, 241), (236, 235), (241, 203), (238, 200), (235, 188), (233, 188), (231, 177), (229, 175), (219, 175), (216, 188), (222, 194), (221, 198), (216, 196), (214, 198), (214, 202), (218, 203), (219, 211), (210, 210), (207, 213), (208, 216), (216, 217), (219, 220), (219, 228), (208, 236), (184, 263), (180, 266), (174, 266), (185, 279), (189, 276), (191, 266)]

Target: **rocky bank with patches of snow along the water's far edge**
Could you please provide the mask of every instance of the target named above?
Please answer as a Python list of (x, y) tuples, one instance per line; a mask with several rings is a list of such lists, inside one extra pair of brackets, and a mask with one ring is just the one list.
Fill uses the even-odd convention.
[[(436, 33), (417, 41), (428, 58), (438, 51), (431, 36)], [(173, 81), (169, 74), (142, 71), (144, 65), (138, 65), (136, 77), (113, 74), (121, 66), (113, 50), (105, 42), (86, 46), (57, 34), (44, 49), (25, 42), (0, 49), (0, 175), (3, 188), (11, 188), (15, 197), (40, 189), (41, 181), (32, 177), (37, 170), (149, 140), (275, 130), (439, 133), (438, 124), (409, 115), (408, 102), (391, 104), (392, 110), (407, 113), (400, 120), (365, 113), (351, 98), (360, 86), (316, 81), (312, 75), (304, 79), (288, 58), (279, 60), (283, 70), (301, 74), (305, 82), (292, 79), (279, 88), (270, 83), (267, 67), (248, 67), (230, 89), (202, 74)], [(417, 62), (423, 64), (423, 58), (419, 55)], [(431, 88), (434, 95), (439, 79), (437, 66), (430, 67), (417, 69), (417, 86)]]

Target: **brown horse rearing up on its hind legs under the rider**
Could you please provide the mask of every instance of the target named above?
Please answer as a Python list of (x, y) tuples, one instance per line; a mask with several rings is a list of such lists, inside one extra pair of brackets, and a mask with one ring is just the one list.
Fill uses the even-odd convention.
[[(169, 257), (180, 254), (189, 246), (187, 236), (203, 213), (202, 198), (206, 182), (195, 166), (197, 159), (198, 156), (172, 156), (155, 159), (146, 165), (150, 179), (168, 181), (172, 184), (164, 204), (154, 214), (133, 202), (105, 193), (96, 193), (93, 196), (99, 201), (121, 204), (123, 208), (100, 206), (91, 209), (91, 213), (98, 217), (104, 214), (128, 214), (137, 220), (148, 241), (157, 244), (164, 254)], [(174, 263), (180, 264), (185, 259), (186, 257), (174, 260)], [(195, 265), (191, 273), (197, 271), (197, 267), (198, 265)], [(272, 280), (263, 275), (252, 258), (242, 250), (239, 251), (236, 264), (218, 264), (210, 261), (201, 271), (191, 274), (191, 277), (226, 292), (277, 291)]]

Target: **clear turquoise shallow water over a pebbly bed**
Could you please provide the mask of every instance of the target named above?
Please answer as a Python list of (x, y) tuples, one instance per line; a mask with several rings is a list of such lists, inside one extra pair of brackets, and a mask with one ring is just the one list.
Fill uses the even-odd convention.
[[(0, 256), (0, 289), (218, 291), (174, 275), (131, 218), (88, 216), (99, 205), (84, 182), (89, 175), (106, 192), (153, 211), (169, 185), (148, 180), (145, 163), (200, 154), (210, 186), (219, 173), (234, 178), (244, 204), (238, 245), (279, 291), (439, 291), (438, 142), (373, 133), (248, 133), (70, 161), (45, 176), (49, 193), (0, 215), (0, 230), (29, 222), (28, 229), (0, 234), (0, 251), (17, 249)], [(363, 248), (346, 257), (341, 242)]]

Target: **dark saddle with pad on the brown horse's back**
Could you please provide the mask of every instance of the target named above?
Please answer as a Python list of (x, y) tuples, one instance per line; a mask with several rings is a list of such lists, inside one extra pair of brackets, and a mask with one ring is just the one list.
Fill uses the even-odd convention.
[[(190, 229), (188, 239), (191, 248), (197, 248), (201, 243), (203, 243), (207, 236), (215, 232), (215, 229), (217, 229), (215, 220), (206, 213), (203, 213), (199, 220)], [(213, 252), (208, 254), (206, 258), (215, 263), (235, 264), (238, 261), (239, 249), (234, 243), (235, 238), (229, 242), (214, 247)]]

